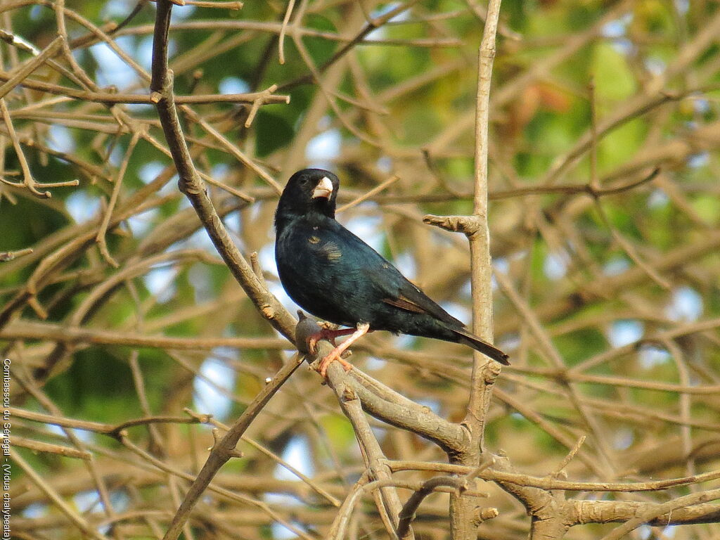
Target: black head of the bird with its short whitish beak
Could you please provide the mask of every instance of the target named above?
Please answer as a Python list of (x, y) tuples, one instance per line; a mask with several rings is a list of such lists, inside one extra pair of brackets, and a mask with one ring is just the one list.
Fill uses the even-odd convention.
[(279, 217), (307, 215), (314, 212), (335, 217), (340, 180), (322, 168), (304, 168), (290, 176), (277, 205), (275, 222)]

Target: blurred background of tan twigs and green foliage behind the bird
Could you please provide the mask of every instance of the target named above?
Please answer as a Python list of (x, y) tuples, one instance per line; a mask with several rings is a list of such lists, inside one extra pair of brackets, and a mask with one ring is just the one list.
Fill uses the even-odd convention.
[[(469, 323), (467, 243), (421, 219), (472, 212), (484, 4), (297, 4), (282, 42), (284, 63), (284, 1), (246, 1), (243, 9), (222, 2), (176, 6), (170, 36), (176, 94), (242, 94), (277, 85), (274, 93), (289, 96), (289, 103), (263, 105), (250, 127), (244, 126), (249, 104), (189, 107), (281, 186), (298, 168), (331, 168), (341, 177), (345, 203), (397, 175), (339, 219)], [(58, 32), (53, 5), (6, 1), (0, 26), (42, 50)], [(176, 189), (155, 108), (63, 96), (63, 88), (92, 85), (148, 94), (155, 7), (140, 5), (116, 30), (134, 2), (67, 1), (73, 58), (92, 84), (43, 65), (30, 79), (55, 91), (29, 84), (4, 97), (36, 181), (79, 184), (51, 188), (46, 199), (0, 184), (0, 252), (34, 250), (0, 262), (0, 344), (26, 381), (14, 383), (14, 406), (23, 410), (50, 412), (49, 400), (58, 408), (53, 414), (120, 423), (181, 416), (189, 407), (230, 423), (292, 346), (243, 294)], [(371, 20), (382, 24), (374, 28)], [(97, 27), (126, 58), (94, 37)], [(713, 1), (503, 1), (491, 96), (492, 255), (532, 318), (495, 290), (496, 341), (513, 365), (500, 377), (487, 430), (490, 448), (503, 449), (523, 471), (549, 474), (567, 454), (566, 441), (583, 434), (581, 454), (598, 467), (575, 459), (568, 471), (579, 480), (682, 476), (719, 464), (717, 395), (678, 392), (720, 384), (719, 32)], [(2, 81), (30, 58), (24, 45), (7, 41), (0, 53)], [(62, 55), (55, 60), (70, 66)], [(222, 184), (209, 189), (235, 242), (246, 256), (258, 253), (271, 291), (294, 309), (274, 268), (276, 191), (194, 117), (186, 114), (183, 122), (191, 145), (201, 147), (199, 170)], [(135, 131), (140, 138), (130, 149)], [(22, 181), (4, 122), (0, 143), (3, 179)], [(114, 216), (125, 212), (106, 235), (117, 268), (94, 240), (71, 246), (82, 234), (94, 237), (109, 207)], [(43, 274), (37, 303), (32, 295), (22, 300), (31, 276), (45, 272), (43, 261), (63, 249), (71, 256)], [(90, 306), (84, 303), (105, 286)], [(186, 341), (153, 344), (157, 336)], [(202, 338), (216, 341), (194, 343)], [(233, 338), (274, 341), (236, 346)], [(451, 420), (464, 414), (470, 360), (463, 348), (388, 335), (369, 336), (354, 356), (361, 369)], [(68, 435), (50, 423), (17, 420), (15, 431), (68, 444)], [(359, 470), (353, 433), (315, 374), (295, 374), (251, 431), (297, 469), (336, 486), (338, 497), (343, 474)], [(377, 432), (390, 457), (444, 459), (408, 433), (387, 426)], [(82, 433), (102, 474), (138, 459), (112, 438)], [(179, 423), (130, 433), (135, 444), (190, 471), (212, 441), (206, 428)], [(68, 474), (88, 474), (80, 460), (19, 451), (58, 490)], [(242, 469), (297, 482), (254, 447), (243, 451), (248, 459), (235, 460), (225, 473)], [(116, 510), (171, 508), (156, 500), (166, 496), (162, 478), (134, 478), (142, 490), (122, 481), (113, 487)], [(318, 511), (327, 505), (267, 486), (236, 489), (278, 508), (296, 508), (298, 500)], [(23, 499), (18, 492), (19, 516), (55, 523), (53, 506), (32, 494)], [(102, 521), (93, 485), (78, 481), (63, 496), (92, 523)], [(510, 510), (481, 533), (523, 537), (524, 516), (513, 513), (518, 504), (497, 496), (504, 498), (493, 504)], [(443, 497), (433, 495), (428, 508), (442, 508)], [(426, 511), (420, 531), (444, 537), (444, 521)], [(323, 531), (327, 523), (318, 516), (297, 510), (295, 521), (303, 531)], [(248, 538), (290, 534), (267, 518), (237, 519), (235, 530)], [(157, 523), (143, 523), (122, 522), (119, 534), (151, 536), (138, 531)], [(106, 534), (107, 526), (101, 530)], [(596, 538), (604, 530), (588, 526), (574, 537)], [(62, 520), (44, 534), (74, 535)], [(688, 526), (667, 534), (720, 533), (716, 526)]]

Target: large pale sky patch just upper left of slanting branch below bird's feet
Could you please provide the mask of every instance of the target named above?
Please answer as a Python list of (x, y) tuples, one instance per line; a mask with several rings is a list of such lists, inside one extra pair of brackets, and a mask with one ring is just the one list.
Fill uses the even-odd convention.
[(193, 406), (195, 410), (208, 413), (220, 420), (228, 417), (233, 402), (228, 397), (235, 387), (235, 370), (220, 360), (218, 356), (237, 359), (235, 349), (218, 347), (202, 362), (199, 377), (195, 377)]

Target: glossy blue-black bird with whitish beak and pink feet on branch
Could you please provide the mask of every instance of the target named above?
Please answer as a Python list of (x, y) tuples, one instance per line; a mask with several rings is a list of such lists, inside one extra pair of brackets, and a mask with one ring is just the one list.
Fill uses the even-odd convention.
[(463, 323), (405, 279), (395, 266), (335, 219), (338, 177), (320, 168), (293, 174), (275, 212), (275, 260), (280, 281), (297, 305), (346, 330), (323, 330), (323, 338), (352, 334), (320, 361), (320, 374), (372, 330), (424, 336), (470, 346), (508, 365), (508, 355), (474, 336)]

